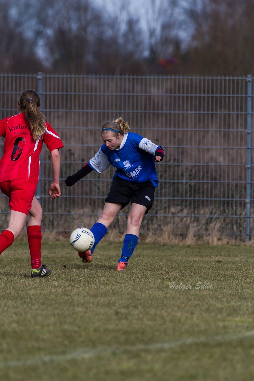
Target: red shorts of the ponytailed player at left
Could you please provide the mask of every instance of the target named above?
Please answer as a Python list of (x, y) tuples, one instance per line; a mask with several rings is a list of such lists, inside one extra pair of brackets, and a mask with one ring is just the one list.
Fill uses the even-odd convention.
[(32, 207), (37, 185), (26, 180), (8, 180), (0, 182), (1, 191), (8, 196), (9, 207), (28, 215)]

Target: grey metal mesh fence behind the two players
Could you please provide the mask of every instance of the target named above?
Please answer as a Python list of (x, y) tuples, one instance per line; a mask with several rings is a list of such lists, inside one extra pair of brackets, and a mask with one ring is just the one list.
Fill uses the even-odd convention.
[[(58, 132), (62, 195), (51, 201), (50, 153), (41, 154), (37, 197), (43, 231), (69, 234), (99, 217), (114, 169), (91, 172), (73, 187), (64, 179), (96, 154), (101, 125), (117, 117), (166, 151), (160, 180), (141, 234), (170, 231), (184, 237), (253, 236), (253, 78), (82, 75), (0, 75), (0, 119), (17, 112), (19, 94), (35, 89), (42, 112)], [(0, 154), (3, 154), (0, 141)], [(125, 231), (129, 207), (112, 227)], [(8, 199), (0, 195), (0, 229), (8, 223)]]

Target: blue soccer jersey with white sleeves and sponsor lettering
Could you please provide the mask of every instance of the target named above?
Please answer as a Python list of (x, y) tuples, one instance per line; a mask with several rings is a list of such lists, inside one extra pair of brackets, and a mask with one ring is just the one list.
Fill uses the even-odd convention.
[(150, 180), (153, 186), (157, 187), (158, 178), (154, 156), (158, 148), (161, 146), (157, 146), (138, 134), (129, 132), (124, 135), (120, 149), (110, 150), (103, 144), (88, 164), (99, 173), (112, 165), (117, 168), (113, 179), (118, 176), (136, 183)]

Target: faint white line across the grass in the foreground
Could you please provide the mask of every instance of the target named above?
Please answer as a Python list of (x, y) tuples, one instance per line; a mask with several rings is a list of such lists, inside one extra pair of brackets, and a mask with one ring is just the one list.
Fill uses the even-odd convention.
[(170, 349), (175, 348), (181, 345), (189, 345), (189, 344), (199, 344), (199, 343), (217, 343), (217, 342), (226, 342), (230, 340), (244, 339), (248, 337), (254, 336), (254, 331), (245, 332), (239, 335), (222, 335), (222, 336), (208, 336), (201, 338), (189, 338), (182, 339), (177, 341), (169, 341), (168, 343), (157, 343), (157, 344), (148, 344), (148, 345), (133, 345), (133, 346), (119, 346), (119, 347), (111, 347), (111, 348), (98, 348), (98, 349), (89, 349), (84, 348), (78, 351), (70, 352), (67, 354), (59, 354), (59, 355), (46, 355), (42, 357), (32, 357), (29, 359), (23, 360), (14, 360), (14, 361), (1, 361), (0, 368), (9, 368), (9, 367), (22, 367), (27, 365), (39, 365), (41, 363), (54, 363), (54, 362), (62, 362), (66, 360), (72, 359), (88, 359), (90, 357), (95, 357), (101, 354), (116, 354), (124, 351), (149, 351), (153, 349)]

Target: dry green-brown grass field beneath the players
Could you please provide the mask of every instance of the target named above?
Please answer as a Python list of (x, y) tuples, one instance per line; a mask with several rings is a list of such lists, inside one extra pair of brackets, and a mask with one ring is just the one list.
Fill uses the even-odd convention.
[(253, 247), (139, 243), (117, 272), (120, 251), (43, 242), (42, 279), (27, 242), (0, 256), (2, 381), (253, 381)]

